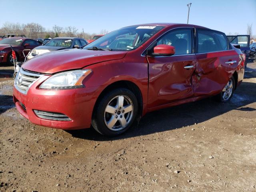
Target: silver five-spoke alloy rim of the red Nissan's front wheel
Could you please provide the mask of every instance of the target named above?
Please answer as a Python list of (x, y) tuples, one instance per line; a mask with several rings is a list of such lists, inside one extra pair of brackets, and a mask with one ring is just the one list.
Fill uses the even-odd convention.
[(125, 95), (112, 98), (104, 112), (104, 121), (108, 129), (120, 131), (126, 128), (133, 116), (134, 106), (132, 100)]

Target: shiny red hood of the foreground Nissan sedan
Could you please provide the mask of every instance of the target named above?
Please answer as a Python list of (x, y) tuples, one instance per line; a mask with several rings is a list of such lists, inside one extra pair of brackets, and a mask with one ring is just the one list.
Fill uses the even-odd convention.
[(85, 66), (124, 58), (125, 51), (100, 51), (68, 49), (46, 53), (28, 60), (22, 68), (34, 72), (54, 74), (66, 70), (81, 69)]

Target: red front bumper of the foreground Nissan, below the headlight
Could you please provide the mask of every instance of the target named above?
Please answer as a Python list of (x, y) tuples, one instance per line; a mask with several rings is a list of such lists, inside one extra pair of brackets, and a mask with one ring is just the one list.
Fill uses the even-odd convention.
[[(18, 112), (32, 123), (40, 126), (63, 130), (89, 128), (100, 88), (40, 90), (38, 87), (43, 81), (44, 78), (37, 80), (29, 88), (27, 94), (22, 94), (15, 87), (13, 88), (13, 100)], [(61, 121), (40, 118), (34, 110), (65, 114), (71, 120)]]

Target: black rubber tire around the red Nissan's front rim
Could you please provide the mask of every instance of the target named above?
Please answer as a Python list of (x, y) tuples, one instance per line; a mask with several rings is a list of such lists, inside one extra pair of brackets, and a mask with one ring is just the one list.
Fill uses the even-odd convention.
[[(117, 98), (118, 96), (124, 96), (124, 100), (130, 101), (131, 104), (133, 105), (133, 111), (132, 111), (132, 115), (128, 119), (127, 124), (126, 124), (126, 126), (124, 126), (124, 128), (122, 128), (122, 125), (121, 125), (121, 122), (120, 122), (119, 126), (121, 126), (121, 128), (122, 128), (121, 130), (111, 130), (106, 125), (107, 120), (106, 120), (105, 117), (107, 115), (114, 115), (115, 117), (117, 117), (119, 115), (118, 116), (119, 120), (120, 120), (120, 118), (127, 118), (128, 117), (128, 116), (125, 117), (125, 115), (122, 116), (122, 114), (120, 114), (121, 110), (119, 111), (119, 114), (118, 114), (118, 112), (116, 114), (107, 114), (107, 112), (105, 112), (106, 107), (108, 105), (110, 105), (110, 102), (112, 102), (112, 101), (114, 102), (114, 99)], [(118, 100), (116, 102), (118, 102)], [(136, 120), (136, 117), (137, 117), (137, 114), (138, 114), (138, 101), (137, 101), (136, 96), (130, 90), (128, 90), (126, 88), (114, 89), (114, 90), (108, 92), (106, 95), (104, 95), (100, 99), (98, 104), (95, 106), (94, 114), (93, 114), (93, 117), (92, 117), (92, 126), (97, 132), (99, 132), (102, 135), (116, 136), (116, 135), (119, 135), (119, 134), (122, 134), (122, 133), (126, 132), (126, 130), (128, 130), (134, 124), (134, 122)], [(112, 118), (114, 118), (114, 117), (112, 116)], [(119, 121), (117, 120), (116, 124), (118, 124), (118, 123), (119, 123)], [(114, 126), (116, 124), (114, 124)]]

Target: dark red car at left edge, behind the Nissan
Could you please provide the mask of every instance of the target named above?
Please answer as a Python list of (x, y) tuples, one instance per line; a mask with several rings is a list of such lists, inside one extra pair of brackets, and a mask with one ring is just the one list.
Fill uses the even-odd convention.
[[(0, 63), (7, 62), (8, 64), (14, 64), (12, 58), (12, 48), (16, 52), (17, 60), (24, 62), (23, 50), (25, 49), (34, 49), (37, 46), (42, 45), (42, 43), (29, 39), (29, 38), (20, 38), (20, 37), (11, 37), (4, 38), (0, 40)], [(28, 54), (29, 51), (26, 51), (25, 54)]]

